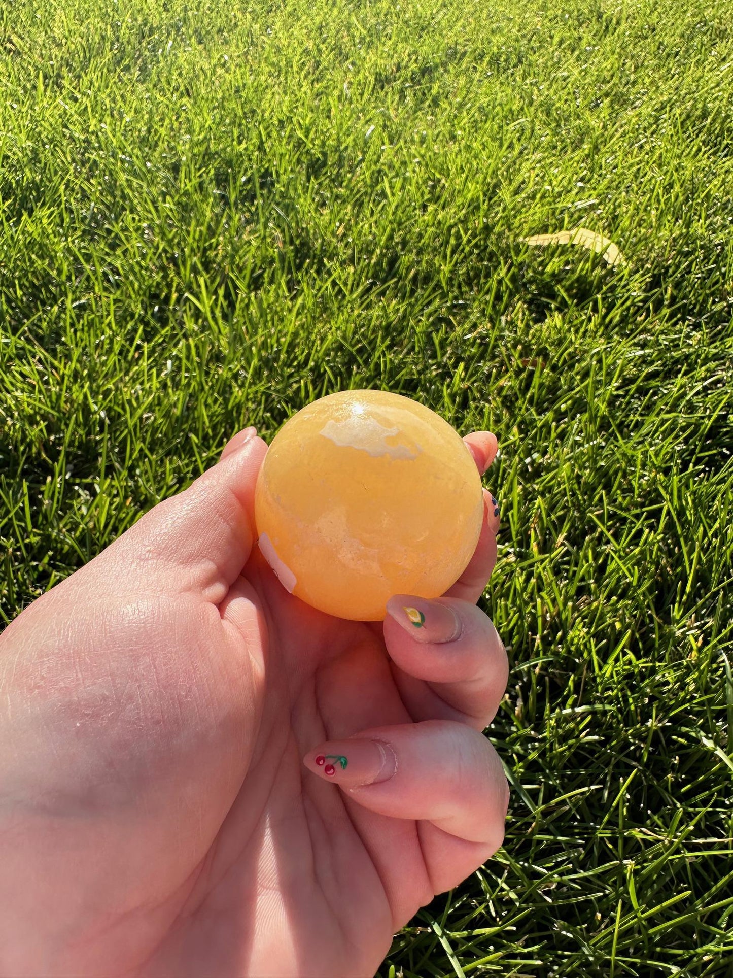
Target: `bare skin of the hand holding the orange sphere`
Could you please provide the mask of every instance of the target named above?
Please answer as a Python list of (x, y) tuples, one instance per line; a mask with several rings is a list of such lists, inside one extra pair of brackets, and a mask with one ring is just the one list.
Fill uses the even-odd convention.
[[(496, 438), (466, 443), (483, 472)], [(0, 637), (3, 978), (371, 978), (501, 843), (491, 497), (425, 633), (409, 596), (341, 621), (252, 549), (266, 450), (239, 432)], [(418, 641), (447, 607), (459, 637)], [(350, 766), (328, 777), (325, 752)]]

